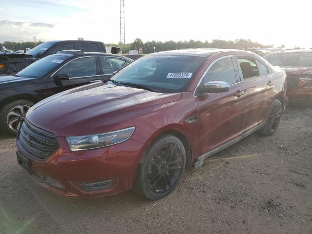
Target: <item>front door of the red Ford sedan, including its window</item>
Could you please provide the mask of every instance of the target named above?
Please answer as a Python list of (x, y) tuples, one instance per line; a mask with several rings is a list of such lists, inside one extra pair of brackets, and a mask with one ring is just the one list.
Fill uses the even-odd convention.
[(199, 124), (199, 154), (205, 153), (239, 136), (245, 112), (245, 84), (239, 78), (234, 56), (213, 61), (199, 86), (207, 81), (226, 81), (230, 90), (196, 96)]

